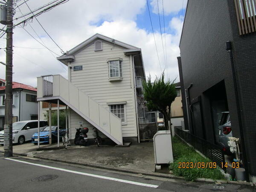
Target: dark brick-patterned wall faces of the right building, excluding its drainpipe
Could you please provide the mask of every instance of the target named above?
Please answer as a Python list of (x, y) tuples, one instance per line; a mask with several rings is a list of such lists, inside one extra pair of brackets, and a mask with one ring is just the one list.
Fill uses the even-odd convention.
[[(207, 140), (213, 128), (204, 91), (224, 80), (234, 137), (240, 137), (236, 98), (226, 41), (233, 44), (249, 172), (256, 175), (256, 33), (239, 35), (233, 0), (189, 0), (180, 41), (183, 84), (191, 101), (202, 96)], [(221, 94), (221, 93), (220, 93)], [(185, 116), (185, 114), (184, 114)]]

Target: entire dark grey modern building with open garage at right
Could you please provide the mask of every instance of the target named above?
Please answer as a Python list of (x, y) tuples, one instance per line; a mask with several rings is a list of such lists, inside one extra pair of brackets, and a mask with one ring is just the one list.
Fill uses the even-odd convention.
[(186, 127), (216, 143), (229, 111), (256, 182), (256, 0), (188, 0), (177, 59)]

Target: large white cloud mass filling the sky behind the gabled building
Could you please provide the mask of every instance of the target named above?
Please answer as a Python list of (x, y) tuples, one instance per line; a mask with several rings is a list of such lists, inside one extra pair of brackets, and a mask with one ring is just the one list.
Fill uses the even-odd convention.
[[(40, 1), (40, 4), (43, 5), (47, 2), (48, 1)], [(38, 7), (38, 2), (29, 1), (28, 3), (32, 10)], [(133, 0), (133, 2), (120, 0), (93, 0), (85, 2), (82, 0), (73, 0), (40, 15), (38, 20), (64, 51), (80, 44), (95, 33), (100, 33), (140, 47), (143, 52), (146, 75), (148, 76), (148, 73), (150, 73), (152, 78), (154, 78), (154, 75), (159, 76), (161, 72), (155, 51), (153, 34), (145, 29), (138, 28), (135, 22), (136, 16), (145, 9), (145, 3), (145, 0)], [(131, 6), (134, 4), (136, 4), (136, 6)], [(28, 12), (24, 5), (21, 6), (21, 9), (23, 13)], [(19, 14), (20, 13), (17, 11), (15, 17)], [(99, 24), (99, 21), (103, 23)], [(178, 48), (180, 33), (179, 21), (180, 18), (173, 18), (169, 22), (169, 27), (174, 30), (174, 35), (166, 34), (167, 74), (170, 79), (174, 79), (178, 76), (176, 57), (180, 55)], [(31, 25), (38, 35), (40, 35), (47, 47), (61, 54), (60, 50), (49, 39), (35, 19), (33, 19)], [(36, 37), (29, 25), (25, 26), (25, 29)], [(14, 46), (16, 46), (14, 47), (13, 55), (13, 71), (15, 72), (13, 81), (36, 86), (36, 77), (41, 75), (61, 74), (67, 77), (67, 72), (64, 69), (67, 67), (56, 60), (56, 55), (52, 56), (47, 49), (44, 49), (44, 47), (31, 38), (22, 28), (16, 27), (14, 29), (13, 38)], [(160, 63), (162, 69), (164, 69), (165, 59), (159, 32), (155, 33), (155, 38)], [(38, 39), (38, 41), (40, 40)], [(5, 39), (1, 38), (0, 47), (5, 47), (5, 43)], [(26, 49), (24, 47), (40, 49)], [(5, 52), (3, 49), (0, 50), (0, 61), (5, 61)], [(4, 77), (4, 66), (0, 65), (0, 78), (4, 79)]]

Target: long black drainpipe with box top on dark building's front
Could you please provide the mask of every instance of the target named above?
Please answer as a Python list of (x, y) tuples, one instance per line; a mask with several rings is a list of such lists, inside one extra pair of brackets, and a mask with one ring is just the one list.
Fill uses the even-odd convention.
[(243, 131), (243, 124), (242, 124), (242, 115), (241, 115), (241, 108), (240, 108), (240, 102), (239, 102), (239, 94), (238, 94), (238, 87), (237, 87), (237, 81), (236, 81), (236, 71), (234, 66), (234, 58), (232, 54), (232, 44), (230, 41), (226, 42), (226, 50), (230, 54), (230, 63), (232, 68), (232, 76), (233, 76), (233, 82), (234, 82), (234, 89), (235, 89), (235, 96), (236, 96), (236, 110), (238, 113), (238, 120), (239, 120), (239, 130), (240, 130), (240, 137), (241, 137), (241, 147), (243, 150), (243, 165), (246, 172), (246, 180), (249, 181), (249, 173), (248, 173), (248, 165), (247, 163), (247, 156), (246, 156), (246, 150), (245, 150), (245, 144), (244, 144), (244, 131)]

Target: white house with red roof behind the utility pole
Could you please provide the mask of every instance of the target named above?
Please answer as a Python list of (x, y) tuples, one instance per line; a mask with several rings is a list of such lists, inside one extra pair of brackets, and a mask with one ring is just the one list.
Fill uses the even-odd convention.
[[(5, 116), (5, 84), (0, 79), (0, 130), (3, 130)], [(37, 89), (22, 83), (12, 82), (12, 116), (13, 122), (38, 119)]]

